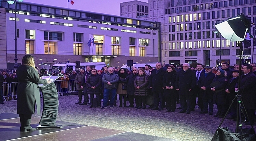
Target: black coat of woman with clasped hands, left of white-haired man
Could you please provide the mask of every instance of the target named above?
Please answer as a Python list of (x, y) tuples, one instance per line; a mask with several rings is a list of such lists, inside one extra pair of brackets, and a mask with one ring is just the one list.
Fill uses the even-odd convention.
[[(177, 73), (172, 71), (172, 72), (167, 72), (163, 75), (163, 96), (176, 96), (177, 90), (175, 87), (175, 81), (176, 81), (176, 75)], [(165, 86), (171, 87), (173, 86), (173, 89), (166, 89)]]

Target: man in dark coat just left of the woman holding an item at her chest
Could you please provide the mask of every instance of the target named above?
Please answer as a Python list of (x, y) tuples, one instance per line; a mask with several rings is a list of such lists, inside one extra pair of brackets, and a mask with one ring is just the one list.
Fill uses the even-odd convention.
[(212, 68), (207, 66), (204, 67), (204, 72), (201, 73), (200, 78), (198, 80), (198, 87), (200, 88), (199, 94), (202, 95), (203, 100), (203, 109), (200, 114), (208, 113), (208, 105), (209, 105), (209, 115), (212, 115), (213, 112), (213, 93), (210, 89), (210, 84), (215, 77), (215, 74), (211, 71)]

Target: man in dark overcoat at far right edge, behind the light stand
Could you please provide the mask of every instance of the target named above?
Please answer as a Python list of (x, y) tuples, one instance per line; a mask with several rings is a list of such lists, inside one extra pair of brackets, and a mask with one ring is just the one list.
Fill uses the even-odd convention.
[[(252, 67), (249, 64), (243, 66), (244, 74), (241, 76), (240, 88), (238, 82), (236, 83), (235, 91), (239, 90), (241, 99), (247, 110), (249, 121), (254, 125), (254, 110), (256, 109), (256, 76), (251, 71)], [(250, 125), (249, 122), (245, 125)]]

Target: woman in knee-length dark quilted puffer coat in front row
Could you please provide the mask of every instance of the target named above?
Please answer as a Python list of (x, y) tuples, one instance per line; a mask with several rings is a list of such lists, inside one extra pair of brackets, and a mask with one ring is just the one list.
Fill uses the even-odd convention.
[[(146, 108), (146, 96), (148, 93), (148, 76), (143, 69), (140, 69), (138, 72), (138, 76), (134, 80), (135, 92), (134, 96), (138, 97), (139, 107), (138, 109)], [(143, 106), (142, 106), (143, 103)]]

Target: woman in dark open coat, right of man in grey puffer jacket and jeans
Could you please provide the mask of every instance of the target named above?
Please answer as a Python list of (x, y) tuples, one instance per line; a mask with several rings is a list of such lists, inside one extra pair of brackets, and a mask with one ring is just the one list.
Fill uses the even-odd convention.
[(117, 94), (119, 94), (119, 101), (120, 105), (119, 107), (122, 107), (122, 98), (124, 98), (124, 107), (126, 107), (126, 99), (127, 99), (127, 79), (128, 79), (128, 72), (126, 72), (126, 69), (121, 68), (118, 71), (118, 76), (119, 76), (119, 82), (118, 82), (118, 87), (117, 87)]

